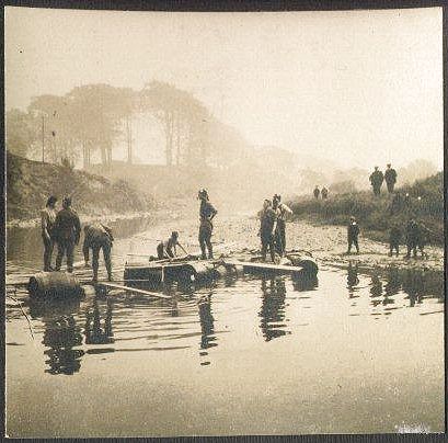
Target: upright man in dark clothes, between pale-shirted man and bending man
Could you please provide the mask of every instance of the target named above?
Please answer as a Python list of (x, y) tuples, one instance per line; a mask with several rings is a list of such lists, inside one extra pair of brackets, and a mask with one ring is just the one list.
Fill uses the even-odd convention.
[(79, 243), (81, 235), (81, 223), (78, 214), (71, 208), (71, 198), (64, 197), (62, 209), (60, 209), (55, 220), (55, 239), (58, 243), (58, 254), (56, 257), (56, 271), (60, 271), (62, 258), (67, 255), (67, 271), (73, 272), (74, 245)]

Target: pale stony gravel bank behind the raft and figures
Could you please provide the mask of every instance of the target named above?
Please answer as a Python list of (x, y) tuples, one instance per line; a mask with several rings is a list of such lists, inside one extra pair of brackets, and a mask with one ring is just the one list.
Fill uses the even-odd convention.
[[(139, 236), (145, 239), (160, 239), (169, 237), (171, 230), (180, 231), (181, 242), (186, 243), (191, 252), (198, 251), (197, 229), (198, 222), (192, 218), (179, 217), (166, 219), (163, 224), (156, 224), (150, 231)], [(241, 251), (260, 250), (257, 237), (259, 222), (249, 214), (225, 217), (217, 216), (212, 242), (216, 255), (238, 253)], [(147, 238), (145, 238), (147, 237)], [(143, 245), (142, 243), (142, 245)], [(149, 242), (150, 248), (154, 246)], [(400, 257), (388, 257), (388, 245), (359, 237), (360, 253), (346, 255), (346, 230), (340, 226), (314, 226), (307, 222), (290, 222), (287, 224), (287, 249), (303, 249), (312, 252), (321, 264), (345, 265), (358, 262), (366, 268), (425, 268), (437, 271), (444, 269), (444, 250), (439, 247), (427, 247), (428, 258), (405, 260), (405, 247), (400, 251)], [(145, 246), (146, 248), (146, 246)], [(149, 251), (154, 253), (156, 251)]]

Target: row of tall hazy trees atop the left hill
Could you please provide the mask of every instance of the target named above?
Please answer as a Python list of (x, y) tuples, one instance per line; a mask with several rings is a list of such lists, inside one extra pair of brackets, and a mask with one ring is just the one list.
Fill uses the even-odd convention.
[(156, 117), (164, 135), (166, 166), (229, 167), (248, 148), (236, 129), (219, 122), (193, 94), (151, 81), (140, 91), (87, 84), (65, 95), (35, 96), (26, 111), (7, 112), (7, 149), (21, 157), (38, 154), (54, 163), (82, 159), (89, 168), (94, 151), (101, 152), (104, 166), (111, 166), (120, 138), (131, 163), (131, 123), (137, 114)]

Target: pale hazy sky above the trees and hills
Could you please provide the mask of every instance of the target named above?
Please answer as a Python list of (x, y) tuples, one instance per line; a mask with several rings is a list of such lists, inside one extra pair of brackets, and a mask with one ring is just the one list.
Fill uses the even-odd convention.
[(441, 9), (282, 13), (5, 8), (7, 109), (74, 86), (193, 92), (254, 145), (370, 169), (443, 166)]

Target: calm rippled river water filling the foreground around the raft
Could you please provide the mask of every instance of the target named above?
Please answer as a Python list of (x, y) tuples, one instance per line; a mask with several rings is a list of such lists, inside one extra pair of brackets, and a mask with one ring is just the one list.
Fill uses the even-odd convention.
[[(153, 220), (114, 230), (116, 266), (157, 241)], [(37, 229), (9, 230), (11, 272), (41, 257)], [(8, 293), (34, 333), (7, 298), (10, 436), (444, 431), (440, 272), (353, 262), (322, 265), (315, 281), (229, 277), (171, 300)]]

